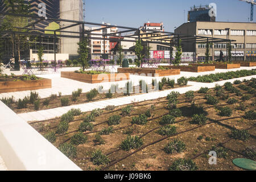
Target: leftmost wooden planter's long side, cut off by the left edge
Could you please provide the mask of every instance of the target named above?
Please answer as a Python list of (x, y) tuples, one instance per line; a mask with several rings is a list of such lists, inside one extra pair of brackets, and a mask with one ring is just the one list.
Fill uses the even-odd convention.
[(0, 93), (52, 88), (52, 80), (0, 81)]

